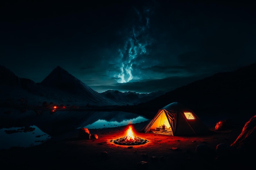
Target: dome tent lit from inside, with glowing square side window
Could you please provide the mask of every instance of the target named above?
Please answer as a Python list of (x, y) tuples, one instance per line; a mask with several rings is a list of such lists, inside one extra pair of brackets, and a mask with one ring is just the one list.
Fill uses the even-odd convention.
[(205, 134), (209, 129), (192, 110), (179, 102), (173, 102), (158, 110), (142, 132), (182, 136)]

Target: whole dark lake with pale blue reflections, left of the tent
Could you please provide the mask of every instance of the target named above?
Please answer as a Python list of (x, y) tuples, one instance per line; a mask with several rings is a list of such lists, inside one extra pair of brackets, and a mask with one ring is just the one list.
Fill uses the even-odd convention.
[[(42, 144), (52, 137), (84, 127), (88, 129), (112, 128), (147, 121), (145, 117), (121, 111), (41, 111), (0, 114), (0, 149), (29, 147)], [(13, 125), (15, 125), (13, 127)]]

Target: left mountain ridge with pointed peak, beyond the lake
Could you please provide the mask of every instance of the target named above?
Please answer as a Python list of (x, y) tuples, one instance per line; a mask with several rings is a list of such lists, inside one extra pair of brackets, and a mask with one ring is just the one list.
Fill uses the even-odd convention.
[(22, 101), (27, 101), (26, 104), (33, 106), (41, 105), (43, 101), (79, 106), (120, 106), (138, 104), (163, 94), (163, 92), (139, 94), (119, 91), (98, 93), (60, 66), (54, 68), (40, 83), (20, 78), (8, 68), (0, 66), (0, 80), (2, 105), (19, 105), (22, 98)]

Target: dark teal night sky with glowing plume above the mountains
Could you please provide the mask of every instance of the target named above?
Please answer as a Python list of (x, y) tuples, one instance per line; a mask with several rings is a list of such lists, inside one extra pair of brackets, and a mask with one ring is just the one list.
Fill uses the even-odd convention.
[(256, 62), (253, 1), (6, 1), (0, 65), (41, 82), (61, 66), (95, 91), (171, 91)]

